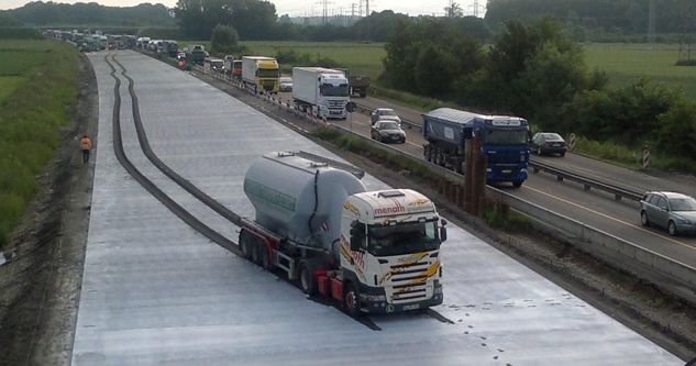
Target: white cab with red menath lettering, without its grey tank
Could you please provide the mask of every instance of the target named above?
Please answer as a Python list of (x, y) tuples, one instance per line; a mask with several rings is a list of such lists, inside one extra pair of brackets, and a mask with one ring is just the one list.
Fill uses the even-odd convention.
[(355, 285), (361, 310), (394, 312), (442, 303), (440, 244), (446, 230), (439, 220), (433, 202), (410, 189), (345, 200), (341, 267), (344, 282)]

